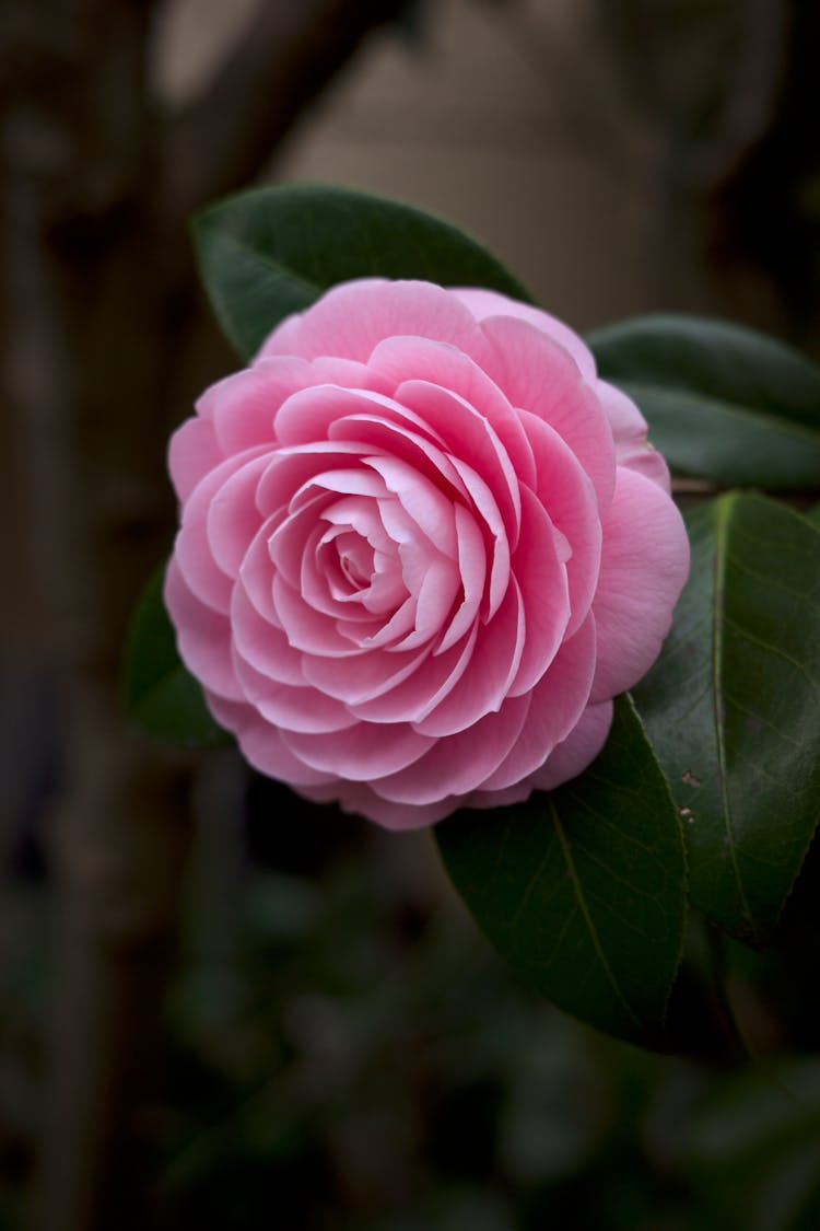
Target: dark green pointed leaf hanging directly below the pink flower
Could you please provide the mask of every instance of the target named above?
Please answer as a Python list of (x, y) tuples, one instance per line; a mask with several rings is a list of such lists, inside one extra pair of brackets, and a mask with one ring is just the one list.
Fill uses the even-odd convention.
[(435, 833), (459, 892), (520, 975), (581, 1020), (660, 1045), (686, 867), (668, 783), (627, 697), (574, 782), (456, 814)]

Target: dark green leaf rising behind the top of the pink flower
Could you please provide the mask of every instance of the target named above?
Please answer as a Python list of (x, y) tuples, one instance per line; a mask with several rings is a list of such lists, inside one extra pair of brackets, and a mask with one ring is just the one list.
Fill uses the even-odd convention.
[(348, 278), (424, 278), (531, 302), (504, 266), (456, 227), (349, 188), (254, 188), (198, 214), (193, 236), (216, 316), (245, 359), (284, 316)]

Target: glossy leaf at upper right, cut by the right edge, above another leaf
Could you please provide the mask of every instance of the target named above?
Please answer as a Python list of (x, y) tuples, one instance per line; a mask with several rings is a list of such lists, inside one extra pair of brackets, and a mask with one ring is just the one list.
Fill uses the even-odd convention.
[(641, 316), (588, 339), (672, 469), (724, 484), (820, 487), (820, 368), (755, 330)]

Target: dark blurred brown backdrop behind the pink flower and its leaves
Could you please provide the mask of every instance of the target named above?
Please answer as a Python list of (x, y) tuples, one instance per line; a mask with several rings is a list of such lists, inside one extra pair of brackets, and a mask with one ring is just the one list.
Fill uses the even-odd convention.
[(0, 1231), (820, 1226), (810, 895), (730, 954), (754, 1064), (643, 1055), (514, 981), (429, 835), (119, 697), (167, 435), (235, 366), (193, 211), (373, 190), (581, 331), (816, 353), (819, 48), (800, 0), (4, 0)]

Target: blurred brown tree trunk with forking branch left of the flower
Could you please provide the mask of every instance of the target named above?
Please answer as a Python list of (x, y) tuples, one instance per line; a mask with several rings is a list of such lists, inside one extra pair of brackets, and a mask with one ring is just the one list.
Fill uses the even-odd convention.
[[(37, 1225), (139, 1226), (140, 1117), (188, 841), (189, 766), (124, 725), (118, 670), (167, 551), (170, 427), (230, 358), (187, 214), (247, 182), (398, 5), (278, 0), (204, 95), (149, 96), (150, 0), (6, 0), (0, 27), (4, 518), (17, 652), (68, 694), (69, 788)], [(209, 331), (210, 330), (210, 331)], [(22, 630), (22, 632), (21, 632)]]

